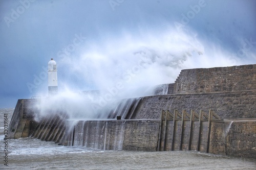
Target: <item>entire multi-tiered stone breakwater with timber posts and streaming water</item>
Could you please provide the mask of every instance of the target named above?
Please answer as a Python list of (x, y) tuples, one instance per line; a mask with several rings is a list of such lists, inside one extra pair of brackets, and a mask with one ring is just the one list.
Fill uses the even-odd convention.
[(182, 70), (174, 84), (159, 86), (167, 94), (124, 99), (108, 119), (97, 120), (52, 112), (36, 121), (40, 100), (18, 100), (9, 138), (99, 150), (198, 150), (256, 158), (255, 84), (255, 64)]

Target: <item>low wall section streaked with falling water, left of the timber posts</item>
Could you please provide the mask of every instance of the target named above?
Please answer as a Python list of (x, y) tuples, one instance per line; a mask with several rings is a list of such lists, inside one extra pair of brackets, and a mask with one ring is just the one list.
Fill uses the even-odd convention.
[[(80, 120), (67, 132), (63, 144), (98, 150), (156, 151), (158, 121), (150, 120)], [(147, 132), (152, 129), (152, 133)], [(138, 138), (144, 139), (138, 143)]]

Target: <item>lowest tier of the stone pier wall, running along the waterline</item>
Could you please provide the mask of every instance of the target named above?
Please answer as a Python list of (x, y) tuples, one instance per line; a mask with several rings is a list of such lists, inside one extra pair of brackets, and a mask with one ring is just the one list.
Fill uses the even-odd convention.
[[(18, 100), (9, 138), (35, 137), (99, 150), (207, 151), (208, 122), (200, 125), (194, 121), (190, 131), (189, 121), (185, 121), (183, 133), (181, 120), (177, 120), (175, 126), (173, 120), (167, 120), (166, 131), (159, 119), (79, 120), (71, 123), (67, 121), (67, 115), (53, 114), (36, 122), (31, 110), (36, 102)], [(256, 158), (255, 134), (255, 118), (212, 122), (208, 152)]]

